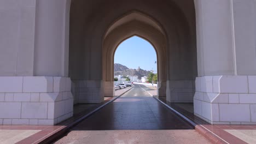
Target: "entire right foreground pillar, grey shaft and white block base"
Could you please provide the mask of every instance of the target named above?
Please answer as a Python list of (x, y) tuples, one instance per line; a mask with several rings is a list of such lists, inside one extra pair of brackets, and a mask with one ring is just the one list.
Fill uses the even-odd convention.
[(195, 115), (211, 124), (255, 124), (255, 2), (197, 0), (195, 5)]

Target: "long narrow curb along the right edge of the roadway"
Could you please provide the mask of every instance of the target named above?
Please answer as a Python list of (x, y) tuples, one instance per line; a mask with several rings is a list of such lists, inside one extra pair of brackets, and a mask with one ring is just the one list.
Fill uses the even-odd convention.
[(191, 121), (189, 118), (187, 118), (186, 116), (182, 115), (182, 113), (179, 113), (178, 111), (174, 110), (171, 106), (168, 106), (167, 104), (165, 104), (164, 102), (162, 102), (161, 100), (159, 100), (158, 98), (154, 99), (158, 100), (159, 103), (161, 103), (162, 105), (166, 106), (168, 109), (170, 109), (171, 111), (173, 111), (174, 113), (176, 113), (177, 116), (181, 117), (182, 119), (184, 119), (184, 121), (188, 122), (192, 127), (195, 128), (195, 130), (200, 133), (201, 135), (203, 135), (204, 137), (206, 137), (207, 140), (211, 141), (212, 143), (228, 143), (225, 140), (223, 140), (222, 138), (220, 138), (218, 135), (214, 134), (211, 130), (203, 127), (203, 125)]

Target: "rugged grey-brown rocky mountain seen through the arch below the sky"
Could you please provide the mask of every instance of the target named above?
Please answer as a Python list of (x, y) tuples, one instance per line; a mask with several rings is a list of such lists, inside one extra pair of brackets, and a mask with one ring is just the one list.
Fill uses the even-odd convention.
[(114, 75), (130, 75), (130, 76), (138, 76), (138, 79), (141, 79), (143, 76), (148, 76), (150, 71), (143, 70), (138, 67), (138, 69), (129, 69), (125, 65), (115, 63), (114, 64)]

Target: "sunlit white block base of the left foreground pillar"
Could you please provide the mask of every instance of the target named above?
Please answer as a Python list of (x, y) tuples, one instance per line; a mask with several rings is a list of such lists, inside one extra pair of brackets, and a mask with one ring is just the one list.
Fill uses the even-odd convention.
[(73, 116), (68, 77), (0, 77), (0, 124), (55, 125)]

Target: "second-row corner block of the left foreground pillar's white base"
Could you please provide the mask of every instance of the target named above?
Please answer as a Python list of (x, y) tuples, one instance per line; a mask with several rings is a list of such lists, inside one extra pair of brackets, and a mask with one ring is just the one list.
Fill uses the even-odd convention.
[(40, 93), (40, 102), (54, 102), (62, 100), (62, 93)]

